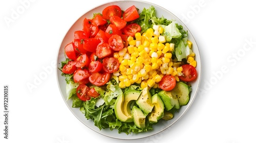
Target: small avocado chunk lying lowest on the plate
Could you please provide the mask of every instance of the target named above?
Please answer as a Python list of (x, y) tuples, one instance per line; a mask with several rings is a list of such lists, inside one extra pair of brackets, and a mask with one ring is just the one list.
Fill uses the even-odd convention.
[(133, 122), (138, 128), (145, 128), (146, 116), (140, 108), (133, 106), (132, 108)]

